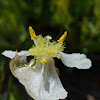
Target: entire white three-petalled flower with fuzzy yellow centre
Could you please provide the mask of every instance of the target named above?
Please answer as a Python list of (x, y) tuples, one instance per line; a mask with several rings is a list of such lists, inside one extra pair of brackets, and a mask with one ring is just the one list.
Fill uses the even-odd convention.
[[(67, 32), (55, 42), (50, 42), (51, 36), (42, 37), (35, 35), (32, 27), (29, 27), (31, 39), (34, 44), (29, 51), (4, 51), (2, 54), (11, 58), (10, 69), (19, 82), (22, 83), (28, 94), (35, 100), (59, 100), (67, 97), (67, 92), (63, 88), (57, 75), (54, 65), (54, 57), (61, 59), (65, 66), (76, 67), (78, 69), (88, 69), (91, 61), (84, 54), (65, 54), (63, 41)], [(29, 63), (26, 56), (33, 55)], [(12, 68), (13, 67), (13, 68)]]

